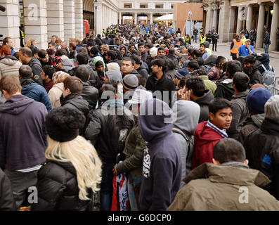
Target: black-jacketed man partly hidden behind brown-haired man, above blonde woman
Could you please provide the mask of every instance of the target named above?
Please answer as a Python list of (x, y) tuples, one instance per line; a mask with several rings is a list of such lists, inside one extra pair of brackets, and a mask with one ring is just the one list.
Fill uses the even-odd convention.
[(84, 83), (82, 88), (82, 93), (79, 95), (82, 96), (82, 98), (84, 98), (84, 100), (86, 100), (89, 103), (90, 110), (95, 109), (98, 102), (99, 92), (98, 89), (96, 89), (93, 86), (90, 86), (89, 83), (90, 75), (88, 70), (82, 67), (77, 68), (76, 77), (81, 79), (82, 82)]

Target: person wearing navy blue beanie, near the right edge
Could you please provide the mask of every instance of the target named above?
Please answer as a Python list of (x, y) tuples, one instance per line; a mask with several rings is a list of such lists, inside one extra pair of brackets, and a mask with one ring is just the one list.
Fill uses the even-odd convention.
[(251, 117), (247, 117), (244, 126), (240, 130), (240, 134), (238, 136), (238, 141), (240, 141), (240, 143), (243, 144), (245, 138), (252, 133), (252, 131), (261, 127), (265, 117), (264, 104), (269, 98), (271, 98), (271, 93), (262, 87), (249, 91), (246, 98), (246, 105)]

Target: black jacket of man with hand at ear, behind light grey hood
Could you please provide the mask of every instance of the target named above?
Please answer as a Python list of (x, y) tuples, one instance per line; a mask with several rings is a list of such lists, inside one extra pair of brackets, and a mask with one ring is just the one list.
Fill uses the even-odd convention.
[(200, 119), (199, 122), (207, 121), (209, 118), (209, 104), (214, 99), (214, 96), (212, 94), (212, 91), (205, 90), (205, 94), (197, 98), (195, 103), (200, 105)]

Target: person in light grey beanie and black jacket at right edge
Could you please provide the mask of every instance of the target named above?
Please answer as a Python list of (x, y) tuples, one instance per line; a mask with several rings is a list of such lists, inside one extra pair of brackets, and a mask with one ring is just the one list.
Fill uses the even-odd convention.
[[(257, 89), (256, 89), (257, 90)], [(255, 90), (255, 91), (256, 91)], [(279, 200), (279, 96), (271, 96), (264, 105), (261, 127), (244, 141), (247, 160), (252, 169), (259, 169), (271, 180), (266, 191)]]

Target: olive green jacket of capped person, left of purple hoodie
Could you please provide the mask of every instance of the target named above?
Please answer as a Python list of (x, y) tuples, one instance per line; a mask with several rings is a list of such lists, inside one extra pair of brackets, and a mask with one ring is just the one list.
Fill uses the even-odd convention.
[(126, 160), (117, 164), (117, 173), (130, 172), (131, 174), (142, 174), (143, 150), (146, 148), (146, 143), (138, 128), (138, 117), (135, 116), (134, 120), (134, 127), (131, 129), (129, 136), (127, 136), (126, 145), (123, 150)]

